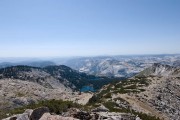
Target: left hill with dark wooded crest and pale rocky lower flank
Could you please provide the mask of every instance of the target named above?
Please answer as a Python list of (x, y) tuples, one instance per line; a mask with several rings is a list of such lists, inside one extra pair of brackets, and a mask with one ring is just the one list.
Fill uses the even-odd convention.
[(0, 110), (46, 99), (66, 99), (72, 88), (41, 68), (14, 66), (0, 69)]

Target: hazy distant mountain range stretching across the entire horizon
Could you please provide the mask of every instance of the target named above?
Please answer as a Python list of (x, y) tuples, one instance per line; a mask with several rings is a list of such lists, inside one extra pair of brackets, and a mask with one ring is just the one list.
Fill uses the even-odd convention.
[[(5, 59), (6, 60), (6, 59)], [(180, 55), (132, 55), (132, 56), (97, 56), (76, 58), (51, 58), (51, 59), (10, 59), (3, 62), (0, 59), (0, 68), (26, 65), (33, 67), (46, 67), (51, 65), (66, 65), (79, 72), (89, 75), (106, 77), (132, 77), (150, 67), (153, 63), (171, 66), (180, 66)]]

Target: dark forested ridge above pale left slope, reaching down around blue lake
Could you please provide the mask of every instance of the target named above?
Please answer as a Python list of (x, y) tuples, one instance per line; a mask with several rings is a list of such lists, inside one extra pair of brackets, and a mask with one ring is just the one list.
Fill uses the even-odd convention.
[(87, 75), (64, 65), (54, 65), (43, 68), (31, 66), (12, 66), (0, 69), (0, 79), (20, 79), (44, 85), (44, 81), (46, 81), (49, 77), (59, 80), (66, 87), (70, 87), (74, 90), (81, 90), (83, 92), (93, 92), (100, 89), (103, 85), (124, 79)]

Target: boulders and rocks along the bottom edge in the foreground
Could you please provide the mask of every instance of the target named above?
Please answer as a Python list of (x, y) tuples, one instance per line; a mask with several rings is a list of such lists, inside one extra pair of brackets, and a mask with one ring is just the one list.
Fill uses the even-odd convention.
[[(96, 111), (96, 112), (95, 112)], [(24, 113), (11, 116), (3, 120), (141, 120), (138, 116), (126, 113), (108, 112), (104, 106), (94, 109), (92, 112), (71, 108), (62, 115), (50, 114), (47, 107), (27, 109)]]

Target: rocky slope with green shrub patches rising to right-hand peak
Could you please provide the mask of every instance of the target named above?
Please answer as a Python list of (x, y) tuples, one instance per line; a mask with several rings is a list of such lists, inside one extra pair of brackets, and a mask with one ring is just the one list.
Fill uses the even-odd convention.
[(114, 111), (142, 112), (160, 119), (178, 120), (179, 98), (180, 69), (153, 64), (135, 77), (105, 86), (90, 103), (104, 104)]

